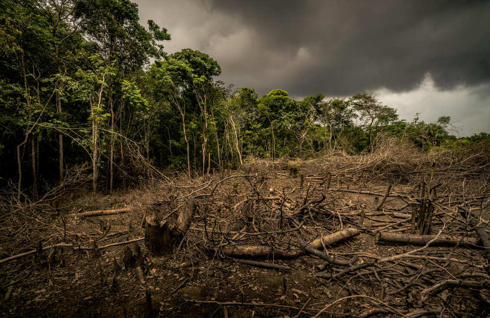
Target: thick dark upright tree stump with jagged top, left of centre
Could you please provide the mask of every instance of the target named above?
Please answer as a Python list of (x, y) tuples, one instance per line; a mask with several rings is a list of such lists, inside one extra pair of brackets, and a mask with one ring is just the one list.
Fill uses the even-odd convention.
[(170, 229), (167, 221), (160, 222), (147, 218), (145, 246), (152, 255), (163, 255), (170, 251)]

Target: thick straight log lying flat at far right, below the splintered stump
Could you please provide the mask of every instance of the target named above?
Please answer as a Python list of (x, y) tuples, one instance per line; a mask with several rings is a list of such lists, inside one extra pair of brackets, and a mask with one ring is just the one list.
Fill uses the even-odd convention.
[[(416, 235), (416, 234), (401, 234), (392, 232), (379, 231), (374, 236), (376, 242), (402, 243), (411, 245), (426, 245), (428, 242), (436, 238), (437, 235)], [(454, 235), (439, 235), (437, 240), (432, 242), (432, 245), (446, 246), (464, 246), (469, 248), (481, 247), (481, 241), (474, 238), (461, 238)]]

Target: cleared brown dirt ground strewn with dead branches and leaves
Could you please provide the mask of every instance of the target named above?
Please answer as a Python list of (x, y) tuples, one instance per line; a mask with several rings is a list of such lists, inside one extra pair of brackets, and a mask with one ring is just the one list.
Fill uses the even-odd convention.
[[(427, 191), (438, 185), (437, 196), (431, 199), (430, 234), (478, 238), (470, 216), (464, 218), (458, 205), (466, 202), (471, 212), (488, 220), (488, 175), (465, 176), (460, 178), (465, 184), (454, 185), (455, 178), (451, 182), (447, 178), (452, 168), (442, 163), (435, 169), (428, 160), (407, 168), (408, 162), (397, 168), (404, 171), (399, 176), (386, 162), (384, 170), (376, 170), (378, 164), (366, 158), (253, 162), (240, 171), (193, 180), (175, 174), (169, 180), (153, 181), (125, 193), (92, 196), (73, 192), (54, 207), (12, 203), (8, 215), (2, 211), (2, 258), (39, 245), (47, 248), (0, 263), (0, 315), (490, 315), (489, 260), (481, 246), (417, 246), (375, 240), (380, 229), (412, 233), (412, 211), (425, 197), (423, 182)], [(416, 172), (408, 173), (409, 168)], [(376, 209), (390, 184), (389, 196)], [(172, 195), (177, 198), (175, 209)], [(174, 240), (168, 254), (150, 255), (143, 240), (105, 247), (144, 238), (141, 223), (145, 213), (149, 218), (167, 220), (172, 228), (190, 198), (196, 202), (190, 229), (183, 239)], [(69, 215), (120, 208), (128, 209), (115, 215)], [(350, 260), (347, 266), (332, 265), (305, 252), (296, 257), (276, 257), (274, 253), (231, 257), (224, 252), (227, 246), (243, 245), (270, 246), (279, 254), (300, 251), (300, 240), (312, 242), (346, 228), (355, 228), (360, 234), (321, 250)], [(71, 246), (49, 248), (55, 244)], [(142, 256), (124, 264), (124, 249), (129, 247), (136, 253), (136, 245)], [(386, 261), (389, 257), (394, 259)], [(265, 264), (245, 265), (240, 259)], [(363, 268), (367, 263), (371, 266)], [(267, 264), (290, 269), (264, 268)], [(144, 282), (138, 278), (138, 265)], [(342, 272), (348, 268), (352, 270)], [(336, 277), (320, 277), (319, 272)]]

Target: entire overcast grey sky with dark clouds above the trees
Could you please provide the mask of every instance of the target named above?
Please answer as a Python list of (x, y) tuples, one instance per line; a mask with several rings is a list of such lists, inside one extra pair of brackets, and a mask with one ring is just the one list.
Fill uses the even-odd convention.
[(370, 90), (401, 119), (451, 116), (490, 131), (490, 1), (136, 0), (166, 27), (169, 53), (209, 54), (218, 78), (261, 97)]

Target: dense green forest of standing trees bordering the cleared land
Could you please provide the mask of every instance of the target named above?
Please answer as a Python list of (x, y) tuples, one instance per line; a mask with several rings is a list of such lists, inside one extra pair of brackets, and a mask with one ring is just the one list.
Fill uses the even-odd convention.
[[(219, 80), (204, 52), (167, 54), (167, 29), (129, 0), (1, 0), (0, 185), (38, 196), (84, 171), (93, 192), (171, 168), (191, 174), (253, 158), (359, 154), (394, 136), (428, 151), (457, 139), (450, 118), (400, 119), (370, 92), (295, 100)], [(44, 189), (44, 190), (43, 190)]]

